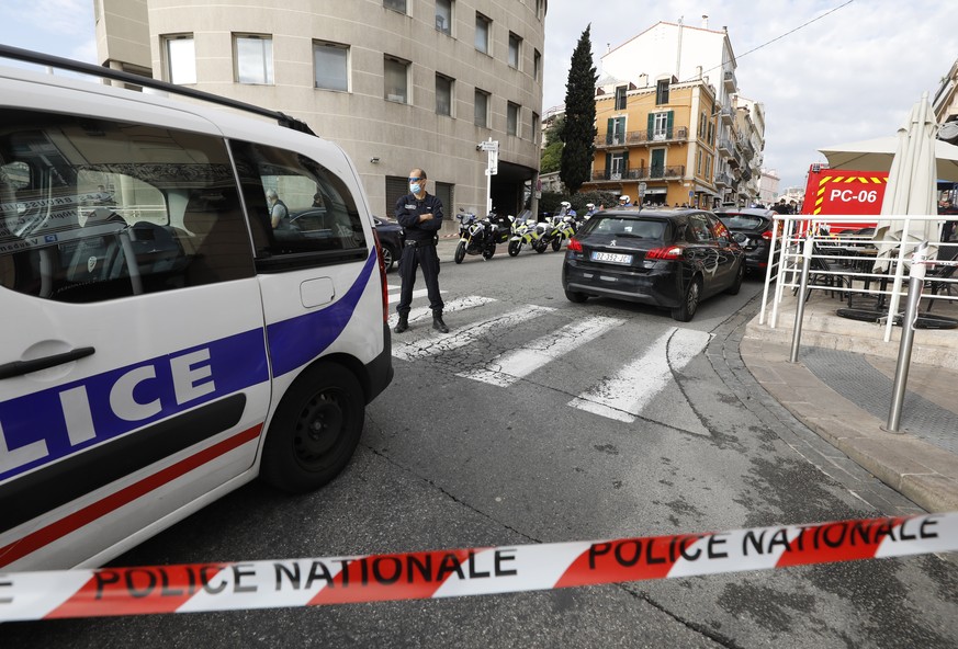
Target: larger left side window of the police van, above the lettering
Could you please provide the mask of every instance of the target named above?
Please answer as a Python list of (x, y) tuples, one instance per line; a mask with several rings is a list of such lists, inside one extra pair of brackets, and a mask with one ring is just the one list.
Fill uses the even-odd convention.
[(95, 303), (253, 276), (222, 138), (14, 110), (0, 123), (0, 285)]

